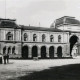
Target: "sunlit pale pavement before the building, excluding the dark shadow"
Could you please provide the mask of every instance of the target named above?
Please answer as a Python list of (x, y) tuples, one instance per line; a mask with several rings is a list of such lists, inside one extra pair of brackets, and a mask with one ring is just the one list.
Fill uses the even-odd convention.
[(80, 58), (44, 59), (44, 60), (9, 60), (9, 64), (0, 64), (0, 80), (29, 75), (34, 71), (68, 64), (80, 64)]

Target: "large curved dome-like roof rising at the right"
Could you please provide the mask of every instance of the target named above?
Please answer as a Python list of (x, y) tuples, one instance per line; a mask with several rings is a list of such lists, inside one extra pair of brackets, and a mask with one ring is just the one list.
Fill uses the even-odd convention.
[[(70, 17), (70, 16), (63, 16), (59, 19), (56, 19), (54, 23), (56, 27), (60, 25), (80, 26), (80, 21), (75, 19), (75, 17)], [(51, 25), (51, 27), (53, 27), (53, 25)]]

